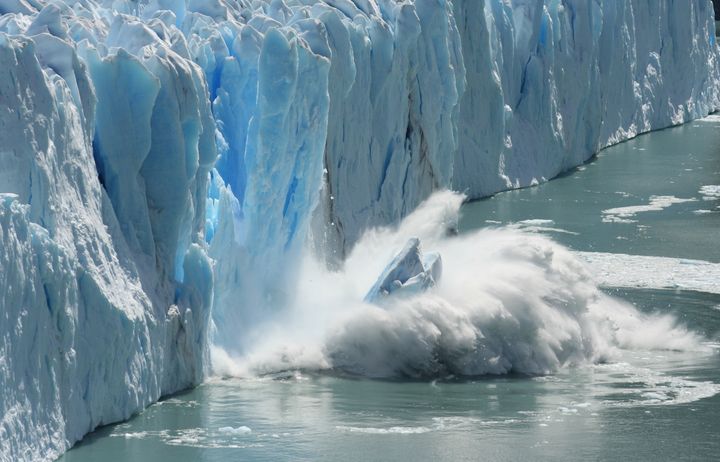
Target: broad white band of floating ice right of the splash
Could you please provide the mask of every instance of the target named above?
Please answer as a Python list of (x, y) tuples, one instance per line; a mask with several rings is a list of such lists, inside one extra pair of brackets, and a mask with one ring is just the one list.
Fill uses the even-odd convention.
[(720, 264), (682, 258), (575, 252), (604, 287), (679, 289), (720, 294)]

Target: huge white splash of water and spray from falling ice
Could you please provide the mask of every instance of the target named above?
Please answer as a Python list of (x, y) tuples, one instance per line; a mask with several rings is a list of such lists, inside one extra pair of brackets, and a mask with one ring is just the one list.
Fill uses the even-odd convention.
[[(367, 232), (339, 271), (306, 252), (292, 303), (263, 324), (262, 340), (242, 357), (213, 347), (215, 372), (534, 375), (610, 361), (623, 348), (702, 348), (673, 317), (602, 293), (585, 264), (548, 238), (508, 228), (453, 235), (463, 199), (436, 193), (398, 227)], [(410, 237), (442, 255), (440, 283), (382, 307), (364, 303)]]

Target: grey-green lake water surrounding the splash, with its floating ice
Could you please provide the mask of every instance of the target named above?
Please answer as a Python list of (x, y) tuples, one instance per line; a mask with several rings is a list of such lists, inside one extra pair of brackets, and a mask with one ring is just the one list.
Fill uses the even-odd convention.
[(468, 204), (460, 222), (461, 232), (512, 226), (583, 252), (604, 290), (674, 313), (707, 339), (706, 352), (627, 351), (544, 377), (217, 380), (96, 431), (61, 460), (717, 460), (717, 185), (711, 117)]

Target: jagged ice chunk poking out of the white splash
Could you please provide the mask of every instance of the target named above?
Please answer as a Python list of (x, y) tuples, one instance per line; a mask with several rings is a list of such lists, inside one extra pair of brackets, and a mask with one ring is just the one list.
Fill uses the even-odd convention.
[(377, 303), (390, 294), (417, 293), (435, 286), (442, 276), (442, 258), (431, 253), (423, 257), (420, 239), (413, 237), (385, 268), (365, 301)]

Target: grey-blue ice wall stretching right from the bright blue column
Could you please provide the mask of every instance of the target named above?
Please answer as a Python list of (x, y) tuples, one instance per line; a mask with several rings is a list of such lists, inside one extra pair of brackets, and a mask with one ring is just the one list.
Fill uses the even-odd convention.
[(338, 7), (351, 53), (345, 34), (329, 34), (333, 68), (355, 75), (331, 88), (326, 148), (326, 221), (341, 251), (438, 186), (470, 198), (529, 186), (718, 107), (706, 0), (378, 4)]

